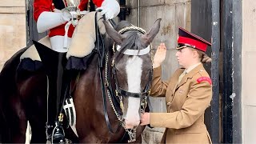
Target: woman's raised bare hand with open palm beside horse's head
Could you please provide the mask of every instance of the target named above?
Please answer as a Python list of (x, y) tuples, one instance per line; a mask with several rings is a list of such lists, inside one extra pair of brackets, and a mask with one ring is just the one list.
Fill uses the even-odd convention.
[(160, 46), (158, 46), (156, 53), (154, 54), (153, 68), (161, 66), (165, 58), (166, 58), (166, 45), (164, 43), (161, 43)]

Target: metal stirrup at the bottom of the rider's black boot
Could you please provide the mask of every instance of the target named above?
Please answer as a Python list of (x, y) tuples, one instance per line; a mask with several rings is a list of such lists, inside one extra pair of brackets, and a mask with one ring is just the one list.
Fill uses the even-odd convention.
[(52, 143), (65, 143), (65, 132), (63, 130), (61, 122), (56, 121), (52, 134)]

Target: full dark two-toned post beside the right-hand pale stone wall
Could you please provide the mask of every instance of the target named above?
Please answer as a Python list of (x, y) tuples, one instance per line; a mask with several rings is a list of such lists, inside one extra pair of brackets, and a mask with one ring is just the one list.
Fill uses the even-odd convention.
[(242, 142), (242, 2), (223, 1), (223, 142)]

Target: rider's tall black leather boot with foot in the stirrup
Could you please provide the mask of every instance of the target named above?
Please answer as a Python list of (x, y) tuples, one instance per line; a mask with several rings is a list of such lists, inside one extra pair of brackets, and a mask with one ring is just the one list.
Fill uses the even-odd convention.
[[(58, 119), (62, 99), (62, 78), (66, 66), (66, 53), (58, 53), (39, 42), (34, 42), (38, 54), (42, 60), (42, 66), (49, 78), (49, 99), (47, 98), (47, 122), (46, 137), (51, 137), (54, 143), (65, 142), (65, 133), (62, 128), (62, 120)], [(57, 79), (56, 79), (57, 78)], [(66, 82), (65, 80), (63, 81)], [(54, 123), (54, 124), (53, 124)], [(55, 126), (53, 126), (55, 125)]]

